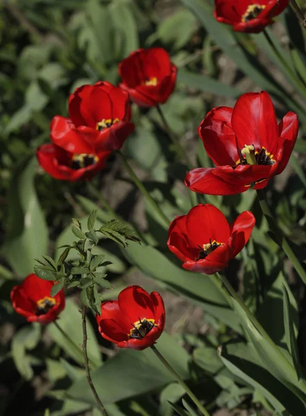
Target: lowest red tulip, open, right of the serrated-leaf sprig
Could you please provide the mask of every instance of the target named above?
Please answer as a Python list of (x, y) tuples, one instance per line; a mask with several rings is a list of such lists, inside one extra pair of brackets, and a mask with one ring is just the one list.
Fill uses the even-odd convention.
[(96, 322), (103, 338), (120, 348), (151, 347), (164, 331), (164, 302), (158, 292), (150, 295), (140, 286), (128, 286), (118, 301), (101, 304)]

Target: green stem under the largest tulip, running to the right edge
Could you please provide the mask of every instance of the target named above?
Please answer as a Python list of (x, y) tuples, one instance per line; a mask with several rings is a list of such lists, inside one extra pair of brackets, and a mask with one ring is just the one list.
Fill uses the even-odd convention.
[(282, 248), (284, 253), (287, 255), (288, 259), (293, 264), (300, 278), (306, 284), (306, 270), (303, 268), (300, 261), (298, 261), (296, 254), (294, 254), (294, 251), (291, 249), (288, 241), (284, 238), (281, 230), (278, 228), (278, 225), (275, 223), (275, 220), (273, 218), (273, 215), (271, 214), (269, 205), (266, 202), (266, 196), (264, 195), (264, 191), (262, 189), (257, 190), (257, 197), (258, 197), (258, 200), (260, 201), (260, 207), (262, 209), (262, 213), (264, 214), (264, 216), (266, 217), (266, 220), (269, 223), (271, 231), (273, 232), (275, 236), (276, 242), (278, 243), (280, 248)]

